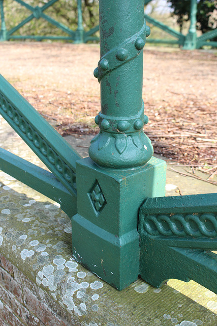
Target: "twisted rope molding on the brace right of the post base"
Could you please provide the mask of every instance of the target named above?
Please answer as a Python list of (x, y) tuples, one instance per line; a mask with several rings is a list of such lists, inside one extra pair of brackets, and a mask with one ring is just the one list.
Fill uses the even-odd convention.
[(143, 216), (143, 231), (152, 236), (217, 236), (217, 213), (159, 214)]

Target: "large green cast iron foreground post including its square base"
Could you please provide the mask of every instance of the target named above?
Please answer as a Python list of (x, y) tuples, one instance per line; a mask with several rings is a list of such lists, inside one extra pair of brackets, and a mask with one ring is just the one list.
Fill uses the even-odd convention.
[(143, 47), (150, 29), (144, 0), (100, 0), (99, 134), (76, 162), (78, 213), (72, 218), (77, 261), (121, 290), (139, 275), (139, 207), (164, 196), (165, 162), (143, 132)]

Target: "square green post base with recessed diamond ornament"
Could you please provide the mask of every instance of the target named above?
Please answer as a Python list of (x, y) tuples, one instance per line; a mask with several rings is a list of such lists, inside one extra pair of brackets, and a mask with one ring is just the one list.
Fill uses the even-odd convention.
[(166, 163), (152, 157), (143, 167), (104, 169), (90, 158), (76, 162), (78, 213), (72, 218), (78, 262), (118, 290), (139, 275), (139, 208), (165, 195)]

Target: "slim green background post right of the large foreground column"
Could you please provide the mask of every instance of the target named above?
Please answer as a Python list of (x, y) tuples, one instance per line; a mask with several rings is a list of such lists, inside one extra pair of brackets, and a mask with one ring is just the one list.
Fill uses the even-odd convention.
[(194, 50), (197, 45), (197, 0), (191, 0), (191, 9), (190, 9), (190, 29), (189, 33), (185, 37), (183, 49), (184, 50)]

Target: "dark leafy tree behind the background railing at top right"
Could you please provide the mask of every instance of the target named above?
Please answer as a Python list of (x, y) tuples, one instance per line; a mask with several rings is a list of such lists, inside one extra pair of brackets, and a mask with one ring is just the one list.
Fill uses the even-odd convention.
[[(191, 0), (167, 0), (170, 7), (173, 9), (172, 16), (177, 17), (177, 23), (180, 26), (180, 32), (184, 21), (190, 19)], [(217, 0), (199, 0), (197, 11), (197, 29), (202, 33), (206, 33), (215, 28), (216, 20), (213, 15), (216, 15)]]

